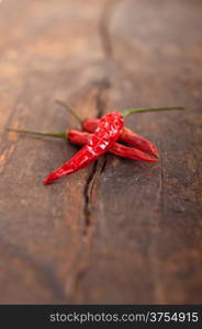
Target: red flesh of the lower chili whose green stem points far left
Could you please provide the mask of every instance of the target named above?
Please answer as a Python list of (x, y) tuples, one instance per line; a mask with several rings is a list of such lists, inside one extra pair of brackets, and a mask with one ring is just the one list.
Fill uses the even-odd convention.
[[(79, 132), (75, 129), (70, 129), (68, 133), (68, 139), (76, 144), (76, 145), (85, 145), (88, 144), (91, 139), (91, 134), (87, 132)], [(141, 150), (132, 147), (124, 146), (119, 143), (114, 143), (108, 149), (110, 154), (116, 155), (122, 158), (128, 158), (132, 160), (142, 160), (147, 162), (157, 162), (156, 159), (150, 158), (149, 156), (145, 155)]]

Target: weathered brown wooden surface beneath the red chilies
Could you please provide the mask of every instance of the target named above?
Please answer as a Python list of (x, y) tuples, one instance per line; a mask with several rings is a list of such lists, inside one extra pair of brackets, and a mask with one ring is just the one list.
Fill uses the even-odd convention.
[[(0, 303), (202, 303), (201, 0), (0, 4)], [(49, 186), (78, 148), (7, 133), (79, 127), (110, 109), (158, 145)]]

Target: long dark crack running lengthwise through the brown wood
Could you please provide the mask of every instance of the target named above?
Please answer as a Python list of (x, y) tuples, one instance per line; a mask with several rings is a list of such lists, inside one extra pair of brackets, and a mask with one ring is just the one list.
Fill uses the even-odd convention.
[[(117, 1), (111, 1), (111, 0), (106, 1), (102, 10), (100, 16), (100, 23), (98, 27), (105, 60), (113, 59), (113, 46), (112, 46), (111, 36), (109, 32), (109, 24), (111, 21), (111, 15), (115, 8), (115, 3), (117, 3)], [(97, 86), (98, 86), (98, 91), (94, 95), (97, 117), (101, 117), (104, 114), (104, 110), (108, 103), (108, 92), (111, 88), (110, 78), (105, 77), (102, 80), (97, 81)], [(104, 171), (106, 161), (108, 161), (108, 155), (104, 154), (103, 157), (99, 158), (98, 161), (96, 161), (92, 164), (92, 170), (87, 179), (83, 189), (85, 226), (82, 230), (82, 236), (83, 236), (83, 245), (85, 245), (83, 247), (86, 250), (85, 250), (82, 266), (78, 269), (76, 272), (75, 280), (74, 280), (74, 288), (71, 290), (71, 296), (74, 296), (72, 298), (75, 303), (81, 302), (79, 300), (79, 296), (77, 292), (79, 291), (79, 284), (82, 277), (86, 275), (86, 272), (88, 270), (88, 263), (89, 263), (88, 259), (89, 259), (89, 252), (91, 247), (91, 239), (93, 235), (93, 223), (91, 220), (92, 212), (93, 212), (93, 192), (98, 183), (99, 177)]]

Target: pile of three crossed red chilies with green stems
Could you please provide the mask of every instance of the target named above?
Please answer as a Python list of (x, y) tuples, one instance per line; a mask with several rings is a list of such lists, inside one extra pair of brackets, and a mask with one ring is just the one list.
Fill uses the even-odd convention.
[[(65, 105), (63, 102), (58, 102)], [(103, 115), (100, 120), (87, 118), (81, 122), (82, 132), (70, 129), (68, 132), (57, 133), (43, 133), (32, 131), (9, 129), (18, 133), (27, 133), (34, 135), (60, 137), (68, 139), (76, 145), (83, 146), (70, 160), (61, 164), (59, 168), (50, 172), (45, 179), (44, 184), (49, 184), (53, 181), (60, 179), (65, 175), (74, 173), (80, 169), (86, 168), (96, 161), (104, 152), (128, 158), (133, 160), (142, 160), (147, 162), (157, 162), (158, 150), (152, 141), (137, 135), (124, 126), (123, 117), (139, 112), (165, 111), (165, 110), (182, 110), (183, 107), (157, 107), (157, 109), (133, 109), (122, 112), (110, 112)], [(70, 110), (72, 113), (72, 111)], [(76, 116), (76, 113), (72, 113)], [(78, 117), (77, 117), (78, 118)], [(133, 147), (125, 146), (117, 143), (132, 145)], [(149, 155), (149, 156), (148, 156)], [(155, 158), (152, 158), (154, 156)]]

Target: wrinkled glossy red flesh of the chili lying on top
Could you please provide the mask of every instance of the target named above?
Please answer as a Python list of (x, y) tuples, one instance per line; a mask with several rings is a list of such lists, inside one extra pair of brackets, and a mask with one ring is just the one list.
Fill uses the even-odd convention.
[(123, 128), (123, 117), (117, 112), (105, 114), (99, 122), (97, 131), (92, 134), (89, 143), (76, 154), (69, 161), (49, 173), (44, 184), (86, 168), (88, 164), (104, 154), (119, 138)]

